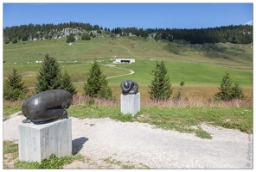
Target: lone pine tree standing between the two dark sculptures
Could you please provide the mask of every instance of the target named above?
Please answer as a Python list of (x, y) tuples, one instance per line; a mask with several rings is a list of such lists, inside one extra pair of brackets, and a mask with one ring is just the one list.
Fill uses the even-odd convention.
[(85, 95), (104, 99), (112, 99), (112, 90), (107, 86), (106, 76), (100, 71), (99, 63), (94, 60), (89, 77), (84, 85)]

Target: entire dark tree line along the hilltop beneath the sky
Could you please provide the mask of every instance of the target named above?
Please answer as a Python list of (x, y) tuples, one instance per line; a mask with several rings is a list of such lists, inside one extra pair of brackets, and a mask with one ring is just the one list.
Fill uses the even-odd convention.
[(155, 40), (186, 40), (191, 44), (203, 43), (239, 43), (251, 44), (253, 43), (253, 26), (250, 25), (230, 25), (219, 28), (102, 28), (99, 25), (91, 25), (90, 23), (69, 22), (61, 24), (29, 24), (21, 26), (13, 26), (3, 28), (3, 38), (5, 43), (10, 40), (26, 41), (33, 38), (51, 39), (54, 34), (58, 34), (64, 28), (77, 28), (81, 31), (90, 32), (96, 30), (97, 33), (105, 30), (109, 34), (120, 34), (121, 36), (128, 36), (129, 33), (147, 38), (153, 34), (151, 38)]

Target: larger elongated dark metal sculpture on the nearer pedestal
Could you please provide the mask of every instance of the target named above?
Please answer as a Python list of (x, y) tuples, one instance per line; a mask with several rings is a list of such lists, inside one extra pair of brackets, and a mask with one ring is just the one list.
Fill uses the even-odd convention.
[(67, 118), (67, 111), (64, 110), (73, 102), (73, 96), (64, 89), (51, 89), (31, 96), (22, 104), (22, 114), (27, 117), (23, 123), (46, 122)]

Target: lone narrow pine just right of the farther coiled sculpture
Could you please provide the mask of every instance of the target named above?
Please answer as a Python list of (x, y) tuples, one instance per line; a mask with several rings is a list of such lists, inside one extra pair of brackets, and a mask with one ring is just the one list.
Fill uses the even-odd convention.
[(157, 62), (156, 71), (152, 70), (152, 75), (154, 76), (150, 87), (150, 99), (157, 101), (167, 101), (172, 94), (170, 77), (168, 76), (168, 71), (164, 65), (164, 62)]

